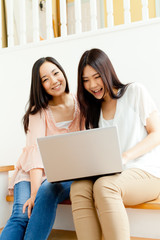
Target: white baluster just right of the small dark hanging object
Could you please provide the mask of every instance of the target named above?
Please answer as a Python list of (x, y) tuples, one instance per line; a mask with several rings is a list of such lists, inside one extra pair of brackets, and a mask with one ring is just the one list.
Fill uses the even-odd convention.
[(46, 1), (46, 35), (47, 39), (53, 38), (52, 0)]

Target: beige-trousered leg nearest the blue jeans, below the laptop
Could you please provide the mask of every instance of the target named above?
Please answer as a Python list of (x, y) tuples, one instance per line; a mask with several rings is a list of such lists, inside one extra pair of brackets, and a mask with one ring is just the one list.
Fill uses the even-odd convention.
[(71, 185), (72, 213), (79, 240), (100, 240), (102, 237), (92, 189), (91, 180), (76, 181)]

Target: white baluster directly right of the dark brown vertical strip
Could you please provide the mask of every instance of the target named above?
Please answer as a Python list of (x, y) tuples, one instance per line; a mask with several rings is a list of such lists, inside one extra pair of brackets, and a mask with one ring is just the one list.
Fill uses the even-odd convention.
[(66, 25), (66, 0), (60, 1), (60, 20), (61, 20), (61, 36), (67, 35), (67, 25)]

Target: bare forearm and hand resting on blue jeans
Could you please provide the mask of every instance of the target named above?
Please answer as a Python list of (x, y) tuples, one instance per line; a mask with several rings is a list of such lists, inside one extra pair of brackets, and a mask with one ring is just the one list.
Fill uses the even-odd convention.
[(28, 207), (28, 217), (31, 216), (32, 208), (34, 207), (34, 201), (36, 198), (37, 191), (41, 185), (42, 180), (42, 169), (34, 168), (30, 170), (30, 180), (31, 180), (31, 196), (23, 205), (23, 213), (25, 213), (26, 207)]

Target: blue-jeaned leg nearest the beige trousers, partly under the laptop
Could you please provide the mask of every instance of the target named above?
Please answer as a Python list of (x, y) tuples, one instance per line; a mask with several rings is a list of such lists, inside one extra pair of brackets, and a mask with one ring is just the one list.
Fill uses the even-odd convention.
[(49, 183), (47, 180), (42, 183), (28, 222), (25, 240), (48, 238), (55, 221), (57, 205), (69, 198), (71, 183)]

